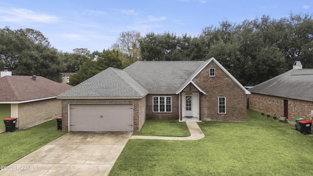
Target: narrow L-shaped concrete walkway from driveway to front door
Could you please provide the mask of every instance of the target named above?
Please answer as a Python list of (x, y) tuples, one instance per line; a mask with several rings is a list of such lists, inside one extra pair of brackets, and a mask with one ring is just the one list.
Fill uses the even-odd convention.
[(187, 137), (169, 137), (169, 136), (136, 136), (132, 135), (131, 139), (161, 139), (161, 140), (199, 140), (204, 137), (197, 122), (186, 122), (190, 131), (190, 136)]

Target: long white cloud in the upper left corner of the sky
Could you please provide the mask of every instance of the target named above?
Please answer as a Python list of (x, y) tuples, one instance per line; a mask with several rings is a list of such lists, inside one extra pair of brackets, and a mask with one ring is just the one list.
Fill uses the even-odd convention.
[(0, 21), (16, 23), (55, 23), (59, 18), (53, 15), (35, 13), (27, 9), (0, 8)]

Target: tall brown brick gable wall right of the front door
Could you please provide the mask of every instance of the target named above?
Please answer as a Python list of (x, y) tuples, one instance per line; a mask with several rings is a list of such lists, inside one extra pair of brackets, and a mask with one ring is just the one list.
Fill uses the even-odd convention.
[[(215, 68), (215, 77), (209, 76)], [(208, 64), (193, 80), (201, 93), (201, 120), (246, 121), (246, 93), (214, 62)], [(226, 114), (218, 113), (218, 97), (226, 97)]]

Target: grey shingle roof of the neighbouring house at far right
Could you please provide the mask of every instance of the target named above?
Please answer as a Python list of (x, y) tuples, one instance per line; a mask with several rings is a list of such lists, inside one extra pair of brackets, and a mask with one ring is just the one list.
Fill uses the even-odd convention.
[(249, 88), (249, 91), (313, 101), (313, 69), (291, 69), (253, 88)]

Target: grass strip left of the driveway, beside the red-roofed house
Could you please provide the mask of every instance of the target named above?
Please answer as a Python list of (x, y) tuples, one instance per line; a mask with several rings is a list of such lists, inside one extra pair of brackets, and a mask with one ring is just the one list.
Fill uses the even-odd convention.
[(65, 133), (57, 130), (56, 120), (25, 130), (0, 133), (0, 166), (8, 166)]

